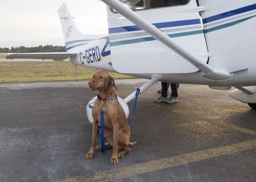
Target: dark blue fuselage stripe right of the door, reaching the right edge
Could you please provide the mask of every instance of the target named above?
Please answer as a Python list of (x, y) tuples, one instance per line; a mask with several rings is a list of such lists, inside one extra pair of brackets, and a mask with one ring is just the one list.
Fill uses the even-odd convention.
[(252, 4), (250, 6), (245, 6), (245, 7), (242, 7), (242, 8), (238, 8), (236, 10), (232, 10), (232, 11), (224, 12), (222, 14), (217, 14), (217, 15), (214, 15), (214, 16), (210, 16), (208, 18), (203, 19), (203, 24), (213, 22), (213, 21), (216, 21), (216, 20), (220, 20), (220, 19), (223, 19), (223, 18), (227, 18), (227, 17), (230, 17), (230, 16), (234, 16), (234, 15), (237, 15), (237, 14), (245, 13), (245, 12), (255, 10), (255, 9), (256, 9), (256, 4)]

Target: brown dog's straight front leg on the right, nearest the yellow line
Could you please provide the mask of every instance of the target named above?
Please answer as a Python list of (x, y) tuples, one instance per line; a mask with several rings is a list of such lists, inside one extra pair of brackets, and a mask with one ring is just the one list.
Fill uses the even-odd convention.
[(115, 122), (112, 122), (112, 124), (113, 124), (113, 133), (114, 133), (114, 142), (113, 142), (113, 154), (112, 154), (110, 163), (117, 164), (118, 163), (119, 124), (117, 120)]

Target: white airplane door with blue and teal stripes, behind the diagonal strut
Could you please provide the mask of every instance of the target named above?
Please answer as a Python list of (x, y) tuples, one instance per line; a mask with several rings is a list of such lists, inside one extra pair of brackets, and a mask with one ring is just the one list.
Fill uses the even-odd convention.
[[(175, 42), (208, 60), (208, 50), (196, 0), (164, 7), (166, 0), (120, 0)], [(172, 0), (173, 1), (173, 0)], [(174, 0), (175, 1), (175, 0)], [(180, 0), (176, 0), (180, 1)], [(112, 66), (120, 73), (190, 73), (198, 71), (182, 56), (155, 40), (107, 6)]]

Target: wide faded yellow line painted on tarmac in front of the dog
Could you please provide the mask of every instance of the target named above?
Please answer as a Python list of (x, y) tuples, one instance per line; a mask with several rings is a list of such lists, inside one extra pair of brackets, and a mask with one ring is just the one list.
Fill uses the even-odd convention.
[[(170, 168), (170, 167), (174, 167), (182, 164), (188, 164), (191, 162), (205, 160), (213, 157), (223, 156), (226, 154), (244, 151), (252, 148), (256, 148), (256, 140), (250, 140), (247, 142), (241, 142), (241, 143), (222, 146), (218, 148), (211, 148), (208, 150), (202, 150), (199, 152), (164, 158), (160, 160), (152, 160), (150, 162), (144, 162), (144, 163), (135, 164), (132, 166), (106, 170), (103, 172), (97, 172), (97, 173), (86, 175), (86, 176), (77, 176), (77, 177), (67, 178), (64, 180), (59, 180), (58, 182), (94, 182), (94, 181), (107, 182), (111, 180), (128, 178), (134, 175), (152, 172), (156, 170), (162, 170), (162, 169), (166, 169), (166, 168)], [(93, 160), (93, 158), (91, 160)]]

